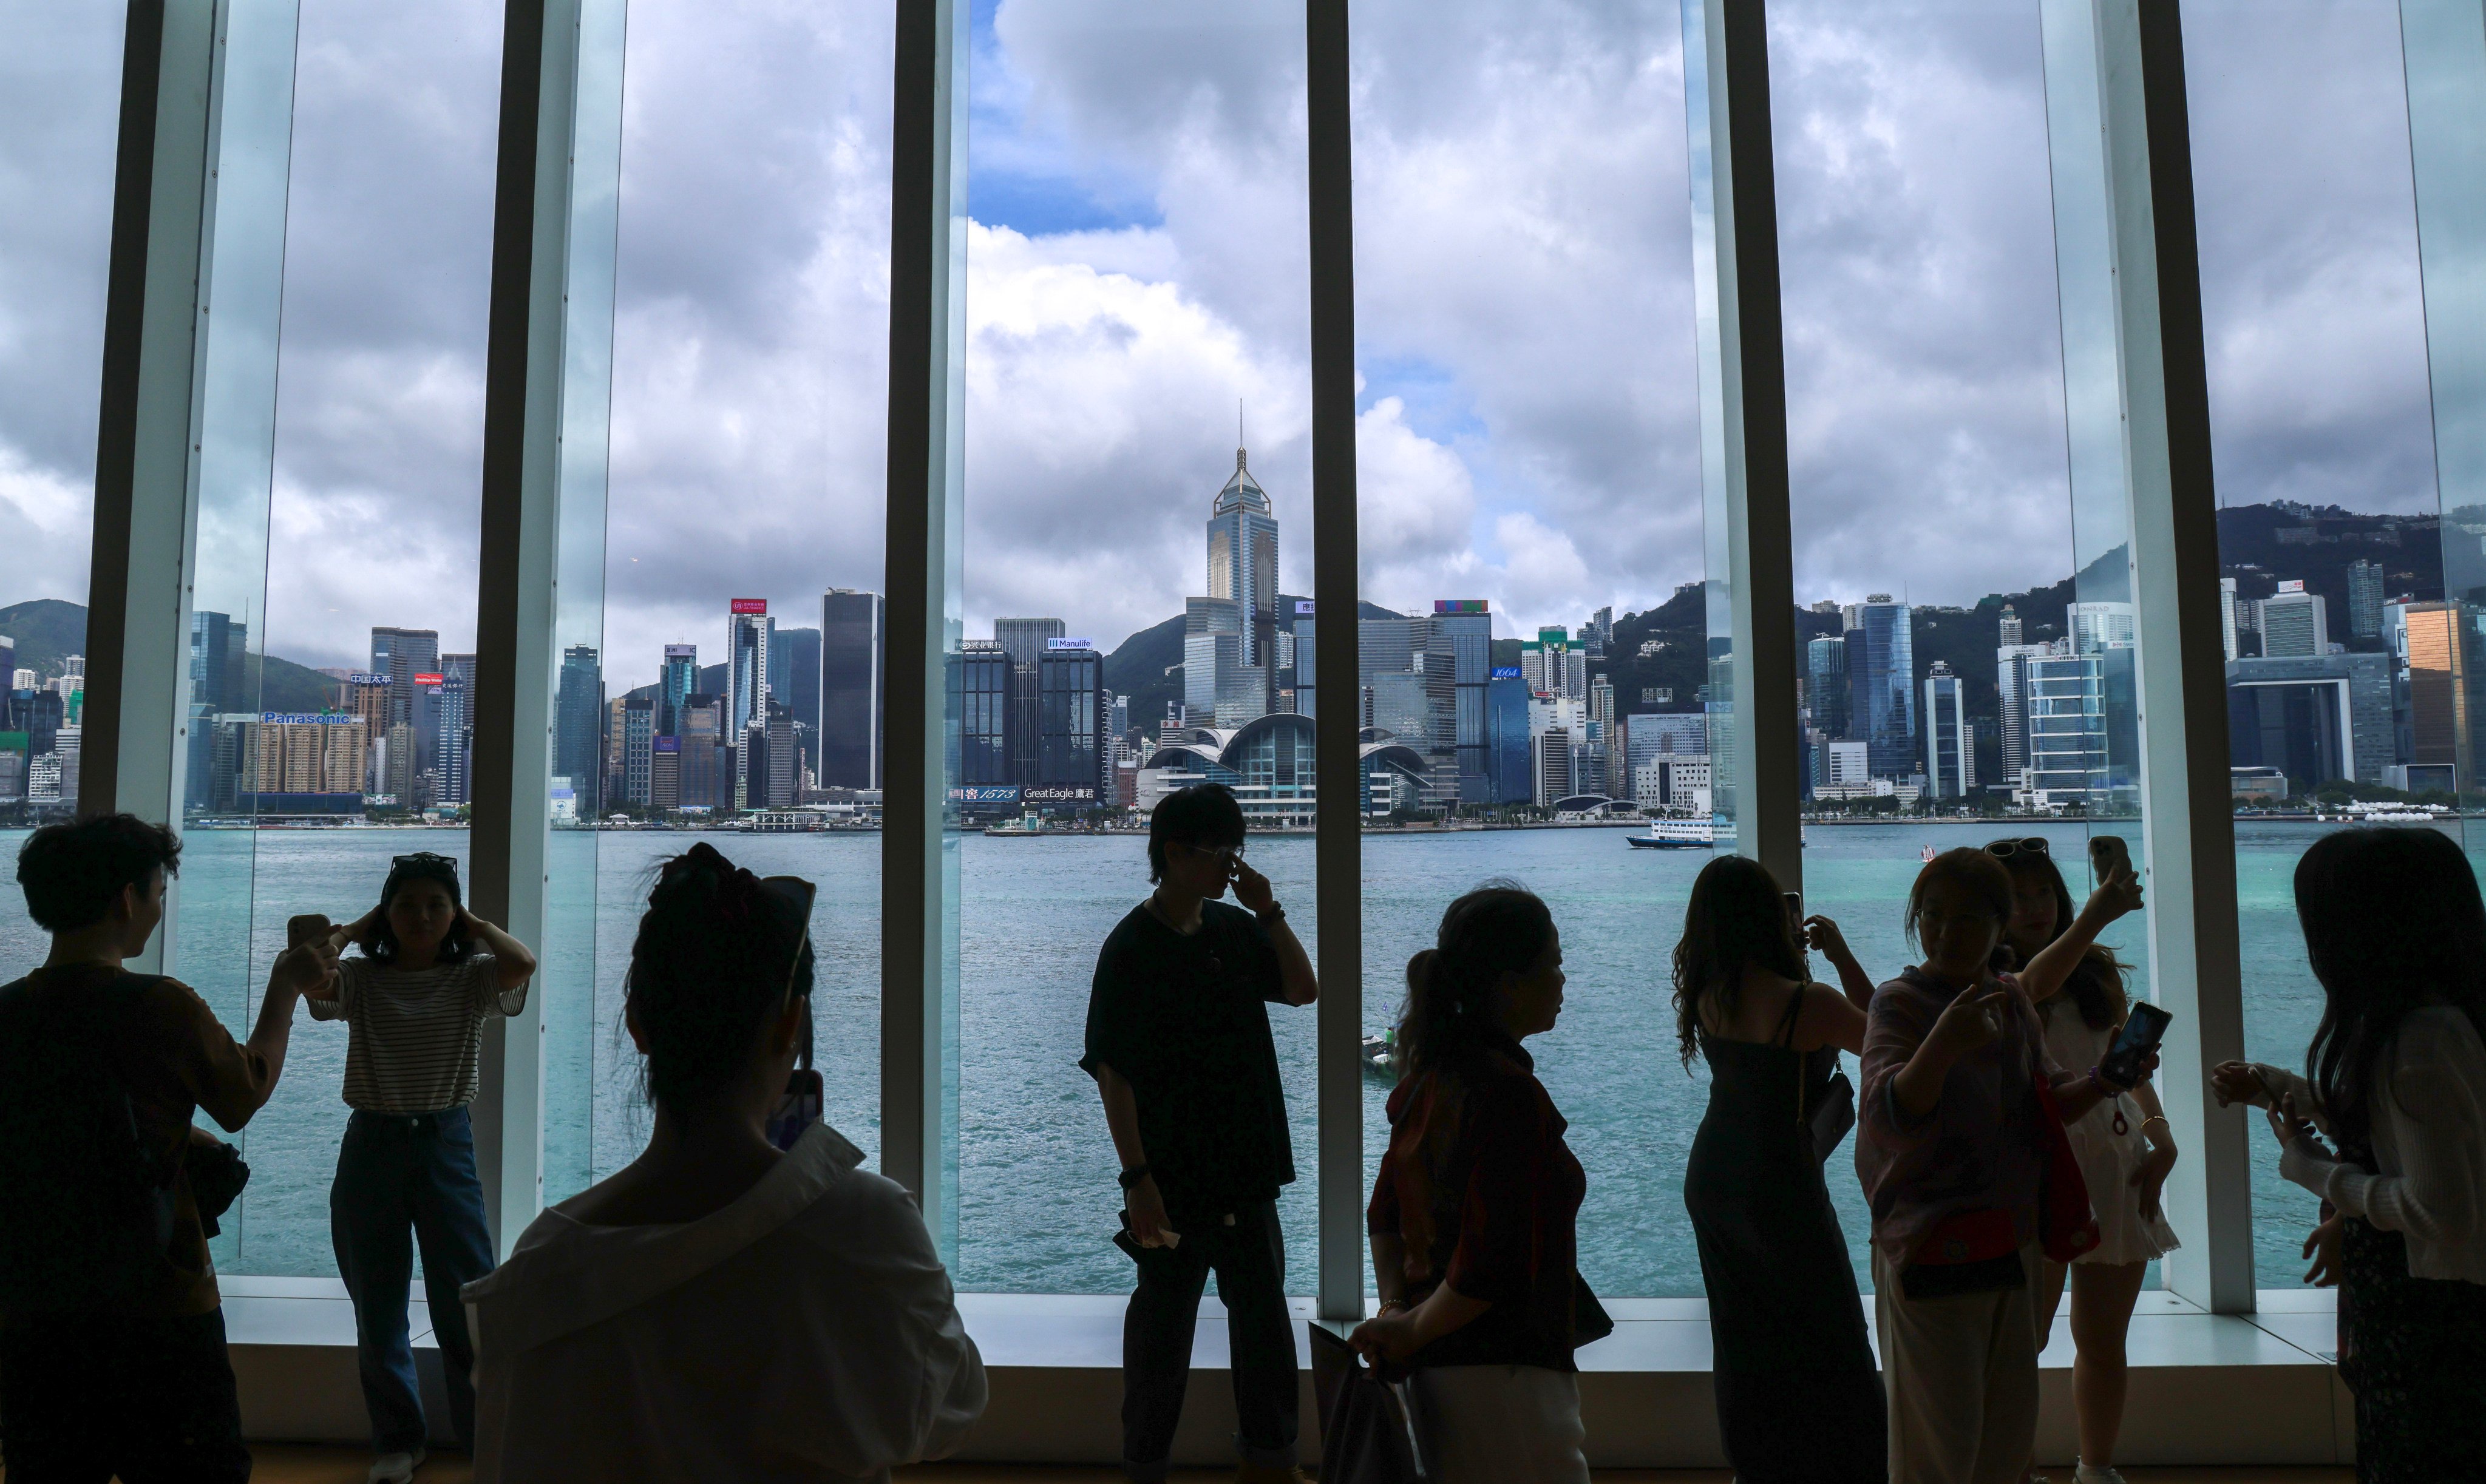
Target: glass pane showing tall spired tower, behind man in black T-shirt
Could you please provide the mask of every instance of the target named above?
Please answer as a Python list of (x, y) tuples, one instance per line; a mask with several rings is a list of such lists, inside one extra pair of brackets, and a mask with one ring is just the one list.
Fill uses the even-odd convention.
[[(1303, 7), (975, 5), (960, 738), (965, 1290), (1126, 1293), (1076, 1061), (1131, 808), (1236, 788), (1313, 942)], [(1273, 1004), (1313, 1283), (1313, 1012)]]

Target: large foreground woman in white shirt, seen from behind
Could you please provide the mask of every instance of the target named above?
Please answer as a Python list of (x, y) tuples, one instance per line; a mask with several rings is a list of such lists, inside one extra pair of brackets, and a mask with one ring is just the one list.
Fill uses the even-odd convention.
[(477, 1484), (878, 1479), (984, 1412), (984, 1362), (907, 1191), (771, 1111), (810, 1029), (810, 882), (664, 863), (622, 1022), (646, 1151), (467, 1285)]

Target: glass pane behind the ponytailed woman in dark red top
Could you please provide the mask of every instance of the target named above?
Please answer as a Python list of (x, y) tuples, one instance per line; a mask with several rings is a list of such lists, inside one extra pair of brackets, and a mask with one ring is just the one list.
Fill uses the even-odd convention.
[[(1710, 815), (1681, 45), (1673, 0), (1357, 5), (1352, 35), (1357, 686), (1392, 783), (1365, 1029), (1459, 892), (1546, 900), (1569, 987), (1529, 1049), (1606, 1295), (1700, 1290), (1666, 962), (1708, 850), (1549, 828), (1646, 805), (1705, 843)], [(1390, 1086), (1365, 1079), (1367, 1181)]]

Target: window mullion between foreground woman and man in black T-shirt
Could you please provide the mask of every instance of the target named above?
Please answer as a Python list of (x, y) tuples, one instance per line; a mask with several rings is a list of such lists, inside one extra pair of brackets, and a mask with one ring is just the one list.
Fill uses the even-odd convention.
[(965, 460), (965, 104), (955, 0), (897, 0), (890, 139), (888, 711), (880, 820), (880, 1168), (957, 1260), (957, 853), (947, 651)]

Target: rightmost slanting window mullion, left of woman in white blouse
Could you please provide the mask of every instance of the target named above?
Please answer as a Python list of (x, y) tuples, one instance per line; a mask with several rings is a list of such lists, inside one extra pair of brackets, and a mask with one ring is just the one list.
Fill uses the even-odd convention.
[[(2163, 1273), (2193, 1303), (2250, 1312), (2250, 1126), (2205, 1094), (2210, 1066), (2242, 1056), (2245, 1017), (2183, 15), (2175, 0), (2041, 15), (2073, 480), (2083, 450), (2111, 450), (2131, 532), (2150, 987), (2175, 1012), (2158, 1094), (2185, 1151), (2165, 1193), (2185, 1245)], [(2086, 343), (2076, 298), (2106, 306), (2111, 343)]]

